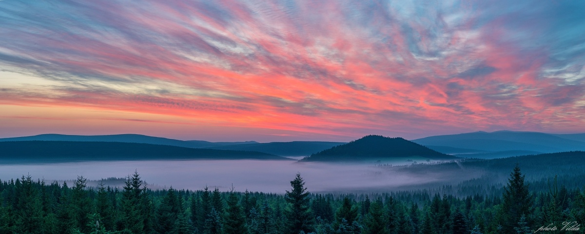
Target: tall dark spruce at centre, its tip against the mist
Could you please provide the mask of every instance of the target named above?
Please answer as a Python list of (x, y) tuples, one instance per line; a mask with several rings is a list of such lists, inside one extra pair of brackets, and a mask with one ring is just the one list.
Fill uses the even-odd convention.
[(309, 211), (309, 192), (305, 188), (305, 181), (302, 180), (300, 173), (297, 173), (297, 177), (291, 181), (291, 187), (292, 190), (286, 191), (284, 196), (290, 204), (290, 209), (286, 212), (288, 233), (311, 232), (313, 219)]

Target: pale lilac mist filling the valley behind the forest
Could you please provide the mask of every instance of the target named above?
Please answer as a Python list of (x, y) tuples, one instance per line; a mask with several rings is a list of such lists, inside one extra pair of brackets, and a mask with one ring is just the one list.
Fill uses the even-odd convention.
[[(201, 190), (205, 186), (228, 191), (284, 193), (290, 181), (301, 173), (311, 192), (395, 191), (401, 188), (426, 188), (429, 184), (459, 183), (481, 174), (407, 173), (393, 167), (373, 164), (295, 163), (263, 160), (185, 160), (185, 161), (84, 161), (75, 163), (10, 164), (0, 166), (0, 179), (30, 174), (51, 181), (126, 177), (137, 171), (149, 188)], [(117, 184), (116, 184), (117, 185)]]

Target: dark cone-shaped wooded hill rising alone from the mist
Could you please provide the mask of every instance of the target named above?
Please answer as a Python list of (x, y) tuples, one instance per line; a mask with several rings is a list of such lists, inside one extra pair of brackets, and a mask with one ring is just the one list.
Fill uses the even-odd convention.
[(301, 161), (356, 161), (414, 156), (427, 159), (456, 159), (454, 156), (436, 152), (401, 137), (370, 135), (312, 154)]

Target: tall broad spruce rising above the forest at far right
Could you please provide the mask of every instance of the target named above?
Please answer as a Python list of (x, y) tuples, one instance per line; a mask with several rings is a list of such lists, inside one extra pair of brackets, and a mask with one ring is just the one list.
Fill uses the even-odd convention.
[[(528, 184), (525, 183), (524, 177), (520, 172), (520, 167), (516, 164), (504, 187), (501, 218), (503, 219), (503, 228), (510, 233), (514, 232), (514, 226), (520, 221), (522, 215), (526, 215), (528, 218), (532, 213), (534, 197), (528, 191)], [(530, 222), (528, 221), (528, 223)]]

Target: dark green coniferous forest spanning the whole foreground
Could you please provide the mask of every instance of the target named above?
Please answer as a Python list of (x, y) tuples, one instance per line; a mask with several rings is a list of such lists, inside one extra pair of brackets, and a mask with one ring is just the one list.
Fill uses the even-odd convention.
[(585, 191), (555, 180), (534, 192), (518, 166), (492, 195), (312, 194), (300, 174), (290, 184), (267, 194), (150, 190), (136, 172), (123, 188), (23, 176), (0, 182), (0, 233), (583, 233), (585, 222)]

